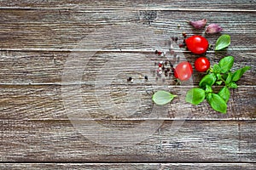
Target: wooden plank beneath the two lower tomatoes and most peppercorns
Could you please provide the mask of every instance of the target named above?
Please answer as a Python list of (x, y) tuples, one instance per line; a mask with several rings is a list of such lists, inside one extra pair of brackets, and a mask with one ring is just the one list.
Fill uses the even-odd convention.
[[(177, 45), (177, 44), (175, 44)], [(81, 60), (81, 69), (84, 71), (81, 75), (81, 82), (84, 84), (97, 84), (96, 77), (112, 77), (118, 84), (127, 83), (128, 77), (134, 77), (134, 83), (158, 84), (158, 85), (175, 85), (174, 77), (165, 77), (156, 80), (156, 70), (158, 63), (163, 60), (172, 61), (172, 65), (176, 66), (183, 60), (188, 60), (194, 67), (197, 56), (190, 53), (175, 52), (175, 56), (168, 52), (165, 58), (154, 54), (154, 49), (148, 52), (24, 52), (24, 51), (3, 51), (0, 54), (0, 83), (1, 84), (61, 84), (63, 74), (70, 70), (76, 70), (78, 65), (68, 65), (67, 61), (74, 59)], [(251, 66), (238, 85), (255, 86), (256, 74), (256, 54), (228, 51), (219, 53), (208, 53), (207, 57), (211, 65), (217, 64), (224, 56), (232, 55), (235, 58), (233, 71), (243, 66)], [(79, 57), (80, 56), (80, 57)], [(87, 63), (85, 63), (87, 61)], [(84, 62), (84, 64), (82, 64)], [(155, 64), (156, 63), (156, 64)], [(108, 73), (108, 74), (107, 74)], [(122, 74), (120, 74), (122, 73)], [(139, 79), (139, 76), (148, 76), (148, 82)], [(78, 71), (79, 75), (79, 71)], [(169, 76), (169, 74), (167, 74)], [(198, 86), (204, 74), (194, 70), (193, 78), (189, 82), (183, 82), (182, 85)], [(165, 81), (166, 82), (162, 82)], [(193, 82), (192, 82), (193, 80)], [(73, 82), (74, 83), (74, 82)], [(79, 82), (80, 83), (80, 82)], [(112, 82), (115, 83), (115, 82)]]

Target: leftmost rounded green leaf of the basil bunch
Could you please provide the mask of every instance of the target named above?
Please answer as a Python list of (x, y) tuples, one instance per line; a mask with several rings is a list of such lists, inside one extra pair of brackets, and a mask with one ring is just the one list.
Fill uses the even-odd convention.
[(205, 99), (205, 91), (201, 88), (192, 88), (186, 95), (186, 102), (199, 105)]

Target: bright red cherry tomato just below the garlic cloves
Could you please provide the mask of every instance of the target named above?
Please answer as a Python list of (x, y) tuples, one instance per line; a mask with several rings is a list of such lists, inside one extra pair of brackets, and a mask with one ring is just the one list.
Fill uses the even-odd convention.
[(205, 37), (192, 36), (185, 40), (187, 48), (194, 54), (203, 54), (207, 52), (209, 43)]

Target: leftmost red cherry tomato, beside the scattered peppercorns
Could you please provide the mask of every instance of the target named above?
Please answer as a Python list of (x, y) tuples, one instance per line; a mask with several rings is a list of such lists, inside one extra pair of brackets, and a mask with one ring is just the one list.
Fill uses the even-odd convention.
[(174, 70), (174, 77), (180, 81), (187, 81), (193, 73), (192, 65), (188, 61), (179, 63)]

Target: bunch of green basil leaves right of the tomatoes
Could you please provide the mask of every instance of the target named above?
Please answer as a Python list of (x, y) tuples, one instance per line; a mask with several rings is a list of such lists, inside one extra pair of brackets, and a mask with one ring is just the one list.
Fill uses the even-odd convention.
[[(245, 66), (237, 71), (230, 71), (234, 64), (234, 57), (227, 56), (221, 59), (218, 65), (213, 65), (207, 75), (201, 79), (199, 88), (192, 88), (186, 95), (186, 101), (199, 105), (204, 99), (212, 106), (212, 109), (226, 113), (227, 103), (230, 99), (230, 88), (237, 88), (236, 82), (243, 73), (250, 69)], [(218, 93), (214, 93), (212, 86), (224, 86)]]

